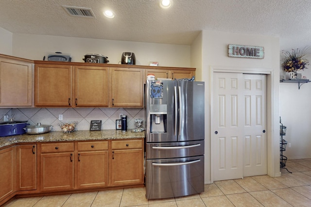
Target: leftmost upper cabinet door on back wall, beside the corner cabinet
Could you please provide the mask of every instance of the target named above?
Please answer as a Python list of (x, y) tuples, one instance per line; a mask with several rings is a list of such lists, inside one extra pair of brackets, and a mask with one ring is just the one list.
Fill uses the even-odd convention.
[(71, 66), (35, 65), (35, 106), (71, 106)]

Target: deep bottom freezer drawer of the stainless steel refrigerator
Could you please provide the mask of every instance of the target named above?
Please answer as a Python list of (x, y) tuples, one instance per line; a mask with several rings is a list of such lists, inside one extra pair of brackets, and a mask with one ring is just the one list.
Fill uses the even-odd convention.
[(146, 160), (146, 198), (173, 198), (204, 191), (204, 155)]

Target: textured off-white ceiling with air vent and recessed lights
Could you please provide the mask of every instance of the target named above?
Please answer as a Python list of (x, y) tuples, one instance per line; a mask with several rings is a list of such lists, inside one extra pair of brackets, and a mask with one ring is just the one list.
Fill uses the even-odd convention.
[[(96, 18), (62, 6), (91, 8)], [(103, 15), (113, 9), (116, 17)], [(13, 33), (190, 45), (201, 30), (273, 35), (282, 49), (311, 45), (311, 0), (0, 0), (0, 27)]]

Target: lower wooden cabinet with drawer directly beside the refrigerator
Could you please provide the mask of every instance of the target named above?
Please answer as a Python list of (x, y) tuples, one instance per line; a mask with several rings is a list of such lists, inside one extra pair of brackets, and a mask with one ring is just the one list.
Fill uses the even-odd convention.
[(143, 184), (143, 141), (112, 141), (111, 185)]

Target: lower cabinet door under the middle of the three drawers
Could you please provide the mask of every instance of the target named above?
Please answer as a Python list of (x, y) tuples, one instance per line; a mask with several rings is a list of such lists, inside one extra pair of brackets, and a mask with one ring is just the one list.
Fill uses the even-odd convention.
[(108, 151), (79, 152), (77, 188), (108, 185)]

